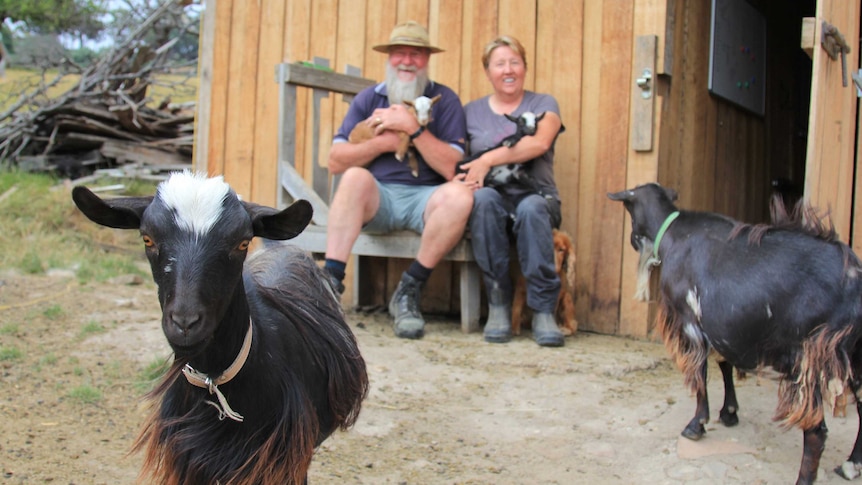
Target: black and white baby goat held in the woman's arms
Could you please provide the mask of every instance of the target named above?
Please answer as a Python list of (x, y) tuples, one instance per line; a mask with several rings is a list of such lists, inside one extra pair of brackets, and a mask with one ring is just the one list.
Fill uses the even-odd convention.
[[(515, 133), (503, 138), (497, 146), (491, 147), (487, 150), (483, 150), (479, 153), (473, 154), (463, 161), (458, 162), (458, 172), (463, 173), (464, 170), (461, 169), (461, 165), (465, 163), (472, 162), (477, 158), (481, 157), (485, 152), (490, 150), (494, 150), (500, 147), (512, 148), (521, 141), (521, 138), (525, 136), (533, 136), (536, 134), (536, 129), (538, 128), (539, 121), (545, 117), (545, 113), (542, 113), (536, 116), (535, 113), (530, 111), (526, 111), (521, 113), (521, 116), (512, 116), (509, 114), (504, 114), (509, 121), (515, 123)], [(507, 163), (505, 165), (496, 165), (491, 167), (491, 170), (488, 171), (488, 175), (485, 176), (485, 180), (483, 182), (485, 187), (504, 187), (506, 185), (517, 185), (523, 188), (528, 189), (530, 192), (540, 193), (539, 184), (527, 173), (527, 167), (531, 162), (523, 162), (523, 163)]]

